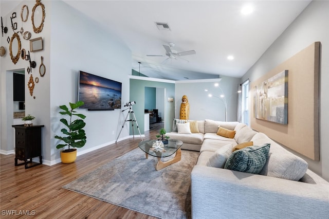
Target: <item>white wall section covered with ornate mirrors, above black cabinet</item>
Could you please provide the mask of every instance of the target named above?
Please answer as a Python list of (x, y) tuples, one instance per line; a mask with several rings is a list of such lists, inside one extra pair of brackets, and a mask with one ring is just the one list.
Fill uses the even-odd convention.
[[(32, 8), (35, 4), (35, 1), (24, 1), (19, 6), (14, 8), (12, 11), (8, 11), (8, 14), (2, 14), (4, 26), (8, 27), (8, 33), (4, 33), (4, 37), (1, 37), (1, 45), (6, 48), (6, 55), (1, 57), (1, 152), (11, 152), (14, 149), (14, 136), (13, 136), (13, 127), (11, 125), (14, 123), (13, 120), (13, 98), (12, 98), (12, 72), (14, 70), (22, 70), (25, 69), (25, 82), (27, 84), (29, 77), (32, 75), (33, 79), (39, 77), (39, 83), (35, 83), (33, 95), (30, 96), (29, 89), (25, 86), (25, 113), (31, 114), (36, 118), (33, 120), (33, 124), (40, 125), (44, 124), (45, 128), (42, 130), (43, 135), (43, 144), (45, 145), (49, 142), (47, 141), (46, 136), (48, 135), (48, 130), (50, 126), (49, 119), (49, 48), (50, 48), (50, 8), (51, 4), (48, 1), (43, 2), (46, 8), (46, 16), (44, 21), (44, 27), (42, 32), (34, 33), (31, 22)], [(29, 16), (28, 21), (22, 22), (21, 20), (21, 9), (23, 5), (27, 5), (29, 8)], [(40, 7), (38, 7), (40, 8)], [(23, 27), (24, 31), (29, 31), (31, 33), (31, 38), (43, 38), (43, 50), (30, 52), (31, 61), (36, 62), (36, 67), (32, 68), (32, 72), (30, 74), (27, 73), (26, 69), (29, 66), (29, 62), (23, 60), (21, 57), (19, 61), (14, 64), (11, 61), (9, 55), (9, 44), (7, 43), (7, 37), (12, 37), (13, 30), (11, 29), (11, 21), (10, 16), (13, 12), (16, 12), (16, 18), (13, 19), (13, 22), (17, 23), (17, 30), (19, 31), (21, 27)], [(36, 10), (35, 14), (38, 12)], [(40, 11), (41, 13), (41, 11)], [(30, 41), (24, 40), (21, 33), (18, 33), (21, 41), (21, 49), (25, 49), (26, 51), (30, 50)], [(44, 77), (39, 75), (39, 66), (41, 64), (41, 56), (43, 56), (44, 64), (46, 65), (46, 74)], [(35, 97), (35, 99), (33, 98)], [(45, 107), (44, 107), (45, 106)], [(16, 122), (16, 121), (15, 121)], [(23, 121), (21, 121), (23, 124)], [(43, 156), (44, 156), (43, 152)]]

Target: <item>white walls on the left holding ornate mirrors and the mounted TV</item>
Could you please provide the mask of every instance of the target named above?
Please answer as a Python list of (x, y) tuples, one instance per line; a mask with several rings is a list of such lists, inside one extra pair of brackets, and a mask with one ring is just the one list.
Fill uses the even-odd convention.
[[(35, 1), (23, 1), (13, 11), (17, 13), (18, 29), (23, 25), (24, 30), (32, 33), (32, 37), (43, 38), (44, 49), (32, 52), (31, 58), (36, 61), (36, 68), (32, 69), (33, 78), (39, 75), (41, 56), (44, 57), (46, 74), (39, 75), (39, 83), (35, 84), (33, 96), (25, 88), (26, 113), (36, 117), (33, 124), (43, 124), (42, 129), (42, 155), (43, 163), (52, 165), (60, 162), (60, 153), (56, 149), (59, 140), (55, 135), (61, 135), (62, 125), (59, 122), (61, 115), (59, 105), (77, 101), (78, 72), (84, 70), (104, 78), (122, 82), (122, 102), (129, 101), (129, 78), (131, 74), (132, 54), (113, 33), (106, 32), (102, 27), (90, 21), (86, 15), (72, 9), (62, 1), (43, 1), (45, 5), (45, 22), (41, 33), (34, 33), (31, 24), (31, 11)], [(29, 8), (28, 22), (22, 22), (20, 11), (23, 5)], [(2, 15), (7, 20), (9, 27), (10, 15)], [(6, 37), (1, 38), (1, 45), (7, 49), (5, 57), (1, 61), (1, 152), (12, 151), (13, 142), (13, 106), (8, 105), (8, 99), (12, 103), (12, 94), (7, 92), (13, 69), (21, 69), (28, 66), (28, 62), (20, 59), (13, 64), (8, 48), (7, 36), (13, 34), (9, 29)], [(5, 36), (5, 35), (4, 35)], [(22, 48), (29, 50), (29, 41), (21, 38)], [(38, 71), (36, 71), (38, 69)], [(25, 81), (29, 79), (25, 75)], [(11, 79), (12, 81), (12, 79)], [(11, 85), (12, 86), (12, 83)], [(11, 88), (12, 89), (12, 88)], [(11, 99), (10, 99), (11, 98)], [(120, 109), (115, 111), (86, 111), (79, 109), (86, 117), (87, 143), (78, 150), (78, 155), (104, 147), (116, 140), (118, 123), (121, 116)], [(121, 138), (129, 136), (128, 131), (121, 133)]]

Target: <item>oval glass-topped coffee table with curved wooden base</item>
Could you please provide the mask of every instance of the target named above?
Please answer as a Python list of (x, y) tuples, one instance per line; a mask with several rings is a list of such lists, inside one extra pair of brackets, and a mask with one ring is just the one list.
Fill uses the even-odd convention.
[[(149, 155), (157, 157), (158, 162), (155, 169), (161, 170), (175, 162), (178, 162), (181, 158), (180, 147), (183, 144), (180, 140), (168, 139), (168, 144), (156, 144), (157, 140), (145, 140), (138, 143), (138, 147), (145, 152), (146, 159)], [(162, 162), (161, 157), (169, 157), (176, 153), (175, 157), (171, 160)]]

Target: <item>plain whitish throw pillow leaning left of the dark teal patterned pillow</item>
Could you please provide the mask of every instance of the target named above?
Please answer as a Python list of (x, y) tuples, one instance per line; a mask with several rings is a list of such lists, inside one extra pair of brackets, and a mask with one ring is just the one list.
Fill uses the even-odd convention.
[(232, 149), (232, 144), (226, 144), (215, 151), (214, 155), (212, 155), (207, 161), (207, 167), (224, 168), (227, 159), (232, 154)]

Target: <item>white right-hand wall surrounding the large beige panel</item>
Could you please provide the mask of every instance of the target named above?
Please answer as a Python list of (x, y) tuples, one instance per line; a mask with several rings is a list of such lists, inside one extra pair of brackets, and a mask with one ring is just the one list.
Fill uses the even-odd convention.
[[(267, 49), (263, 56), (248, 70), (241, 81), (247, 78), (254, 81), (275, 68), (297, 52), (320, 41), (321, 74), (320, 74), (320, 161), (304, 157), (309, 169), (329, 180), (329, 2), (313, 1)], [(303, 76), (301, 76), (303, 77)], [(302, 108), (303, 106), (301, 106)], [(293, 152), (293, 151), (292, 151)], [(296, 153), (296, 152), (294, 152)]]

